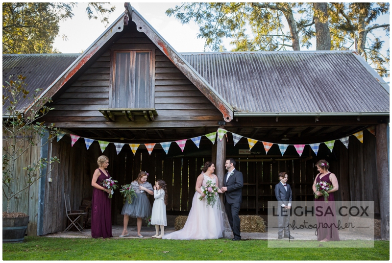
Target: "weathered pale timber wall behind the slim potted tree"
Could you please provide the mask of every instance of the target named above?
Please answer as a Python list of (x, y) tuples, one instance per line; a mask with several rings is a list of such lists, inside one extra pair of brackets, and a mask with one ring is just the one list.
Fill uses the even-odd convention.
[[(6, 134), (3, 133), (3, 136)], [(27, 143), (26, 143), (27, 144)], [(7, 147), (7, 140), (3, 137), (3, 147)], [(6, 154), (3, 151), (3, 155)], [(27, 150), (15, 163), (15, 175), (12, 185), (12, 192), (20, 191), (25, 188), (27, 184), (27, 171), (23, 169), (27, 165), (32, 165), (33, 163), (37, 163), (40, 157), (40, 149), (39, 148), (30, 148)], [(37, 220), (38, 220), (38, 187), (39, 181), (34, 182), (29, 188), (24, 191), (18, 193), (14, 198), (10, 201), (10, 212), (18, 212), (25, 213), (29, 215), (29, 222), (27, 227), (27, 235), (28, 236), (36, 236), (37, 235)], [(7, 191), (6, 187), (3, 186), (3, 189)], [(7, 211), (7, 199), (3, 196), (3, 212)]]

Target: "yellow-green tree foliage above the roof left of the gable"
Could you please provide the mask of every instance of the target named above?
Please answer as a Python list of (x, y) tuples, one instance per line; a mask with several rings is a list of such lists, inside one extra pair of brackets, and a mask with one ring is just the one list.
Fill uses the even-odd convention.
[[(106, 14), (115, 10), (108, 3), (88, 3), (89, 19), (98, 19), (109, 24)], [(73, 18), (77, 3), (16, 3), (4, 2), (3, 7), (3, 53), (29, 54), (58, 52), (53, 42), (59, 32), (59, 22)], [(63, 36), (65, 37), (65, 36)]]

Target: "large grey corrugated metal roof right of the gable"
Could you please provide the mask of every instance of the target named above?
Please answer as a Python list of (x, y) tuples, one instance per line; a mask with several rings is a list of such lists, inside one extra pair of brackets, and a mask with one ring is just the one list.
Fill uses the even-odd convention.
[(238, 112), (389, 113), (389, 93), (352, 51), (181, 55)]

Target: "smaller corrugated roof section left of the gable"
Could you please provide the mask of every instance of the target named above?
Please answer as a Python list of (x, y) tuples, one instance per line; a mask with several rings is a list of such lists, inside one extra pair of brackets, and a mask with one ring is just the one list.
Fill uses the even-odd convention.
[[(9, 81), (9, 76), (13, 75), (13, 80), (17, 75), (25, 76), (25, 83), (30, 95), (36, 89), (49, 87), (56, 78), (64, 72), (68, 66), (80, 54), (3, 54), (3, 85)], [(4, 93), (4, 89), (3, 89)], [(31, 101), (21, 101), (20, 109), (24, 109)], [(3, 114), (6, 107), (3, 106)]]

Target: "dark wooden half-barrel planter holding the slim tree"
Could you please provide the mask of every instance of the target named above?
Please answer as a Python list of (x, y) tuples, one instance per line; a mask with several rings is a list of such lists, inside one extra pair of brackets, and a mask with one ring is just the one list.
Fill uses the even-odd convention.
[(3, 243), (23, 242), (28, 225), (29, 216), (4, 218), (3, 217)]

